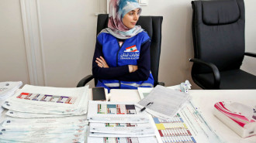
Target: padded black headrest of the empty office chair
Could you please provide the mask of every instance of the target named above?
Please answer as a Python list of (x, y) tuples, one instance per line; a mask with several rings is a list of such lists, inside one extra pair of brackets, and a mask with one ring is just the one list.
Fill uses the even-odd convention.
[(240, 9), (236, 0), (202, 2), (202, 21), (207, 25), (223, 25), (237, 22)]

